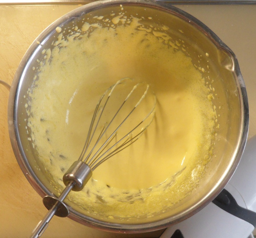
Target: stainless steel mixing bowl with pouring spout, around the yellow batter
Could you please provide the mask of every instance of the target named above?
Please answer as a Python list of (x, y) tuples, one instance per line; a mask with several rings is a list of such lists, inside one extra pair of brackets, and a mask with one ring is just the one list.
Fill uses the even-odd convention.
[[(211, 67), (209, 73), (202, 75), (214, 79), (212, 87), (218, 89), (214, 103), (217, 114), (220, 114), (221, 125), (217, 132), (214, 159), (208, 164), (208, 169), (198, 187), (176, 206), (162, 214), (144, 217), (138, 220), (110, 219), (87, 213), (75, 202), (68, 201), (69, 218), (82, 224), (116, 232), (145, 232), (167, 227), (190, 217), (211, 202), (228, 183), (239, 163), (244, 150), (248, 132), (248, 100), (244, 81), (239, 70), (235, 54), (202, 22), (169, 4), (155, 1), (97, 1), (84, 5), (61, 17), (39, 35), (26, 52), (15, 74), (8, 106), (9, 132), (13, 151), (24, 175), (41, 195), (57, 195), (51, 185), (51, 178), (40, 170), (42, 165), (37, 160), (36, 151), (28, 140), (26, 131), (26, 99), (28, 88), (34, 82), (38, 61), (44, 60), (42, 50), (52, 48), (52, 42), (58, 36), (56, 27), (72, 28), (75, 22), (81, 28), (82, 19), (90, 16), (108, 16), (118, 12), (123, 5), (127, 15), (143, 16), (143, 24), (165, 25), (172, 39), (184, 40), (189, 46), (187, 53), (196, 64), (198, 56), (201, 66)], [(147, 20), (152, 17), (154, 21)], [(96, 19), (97, 20), (97, 19)], [(68, 30), (66, 31), (68, 34)], [(40, 42), (40, 44), (38, 44)], [(207, 57), (207, 54), (210, 57)], [(38, 59), (38, 60), (37, 60)]]

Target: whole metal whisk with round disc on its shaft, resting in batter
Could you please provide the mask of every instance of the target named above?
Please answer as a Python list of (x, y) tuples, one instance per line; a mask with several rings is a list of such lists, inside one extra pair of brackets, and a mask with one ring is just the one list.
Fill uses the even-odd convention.
[(124, 78), (103, 93), (94, 110), (87, 138), (78, 160), (63, 176), (65, 188), (58, 198), (45, 196), (49, 210), (30, 238), (40, 237), (54, 215), (66, 217), (63, 202), (71, 190), (81, 191), (101, 163), (137, 141), (153, 121), (156, 97), (148, 83)]

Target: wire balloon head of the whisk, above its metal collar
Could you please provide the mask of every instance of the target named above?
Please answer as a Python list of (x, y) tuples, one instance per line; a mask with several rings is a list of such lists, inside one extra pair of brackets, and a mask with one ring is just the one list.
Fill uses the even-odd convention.
[(156, 97), (149, 84), (130, 78), (116, 82), (101, 96), (78, 160), (92, 171), (131, 145), (147, 129), (155, 115)]

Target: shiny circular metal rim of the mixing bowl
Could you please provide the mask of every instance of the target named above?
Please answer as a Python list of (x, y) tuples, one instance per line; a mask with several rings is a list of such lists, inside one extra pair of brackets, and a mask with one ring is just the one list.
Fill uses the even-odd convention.
[(21, 142), (19, 138), (19, 131), (17, 127), (18, 115), (16, 110), (17, 97), (19, 94), (20, 76), (22, 75), (26, 65), (28, 64), (29, 59), (31, 58), (31, 55), (33, 54), (35, 49), (38, 49), (38, 41), (42, 42), (45, 39), (45, 36), (49, 35), (53, 30), (55, 30), (55, 28), (62, 27), (63, 25), (65, 25), (66, 22), (72, 21), (73, 19), (76, 19), (76, 17), (88, 12), (92, 12), (92, 11), (109, 7), (109, 6), (117, 6), (117, 5), (125, 6), (129, 4), (137, 5), (140, 7), (145, 6), (145, 7), (157, 8), (160, 11), (170, 12), (171, 14), (175, 14), (181, 17), (183, 20), (189, 21), (190, 24), (193, 24), (194, 26), (196, 26), (196, 28), (198, 28), (200, 31), (203, 31), (204, 34), (206, 34), (207, 37), (210, 38), (218, 48), (222, 49), (230, 56), (234, 64), (234, 72), (237, 77), (236, 83), (239, 89), (238, 94), (240, 98), (240, 107), (241, 107), (240, 116), (242, 119), (241, 125), (240, 125), (240, 134), (238, 139), (239, 142), (236, 145), (236, 153), (235, 153), (236, 156), (232, 160), (233, 163), (230, 164), (230, 166), (228, 166), (228, 168), (225, 170), (226, 172), (225, 174), (223, 174), (223, 176), (219, 180), (219, 183), (216, 184), (203, 199), (200, 199), (200, 201), (196, 202), (194, 206), (192, 206), (188, 210), (185, 210), (182, 213), (173, 216), (172, 219), (165, 218), (160, 221), (155, 221), (148, 224), (143, 223), (138, 225), (107, 223), (107, 222), (102, 222), (100, 220), (95, 220), (90, 217), (87, 217), (87, 219), (81, 219), (81, 216), (79, 216), (79, 213), (68, 206), (70, 210), (70, 215), (68, 217), (81, 224), (84, 224), (93, 228), (105, 230), (105, 231), (111, 231), (111, 232), (141, 233), (146, 231), (149, 232), (149, 231), (158, 230), (161, 228), (168, 227), (171, 224), (178, 223), (194, 215), (196, 212), (198, 212), (204, 206), (210, 203), (221, 192), (224, 186), (226, 186), (226, 184), (228, 183), (229, 179), (232, 177), (244, 151), (244, 147), (245, 147), (245, 143), (248, 135), (248, 127), (249, 127), (249, 107), (248, 107), (248, 98), (247, 98), (244, 80), (241, 75), (238, 61), (234, 52), (231, 51), (231, 49), (226, 44), (224, 44), (220, 40), (220, 38), (210, 28), (205, 26), (204, 23), (202, 23), (200, 20), (196, 19), (189, 13), (183, 10), (180, 10), (177, 7), (174, 7), (168, 3), (157, 2), (153, 0), (126, 0), (126, 1), (101, 0), (101, 1), (96, 1), (96, 2), (86, 4), (84, 6), (76, 8), (71, 12), (68, 12), (67, 14), (60, 17), (58, 20), (54, 21), (51, 25), (49, 25), (34, 40), (34, 42), (28, 48), (28, 51), (25, 53), (24, 57), (22, 58), (20, 65), (17, 68), (17, 71), (13, 78), (13, 83), (10, 91), (9, 102), (8, 102), (8, 128), (9, 128), (9, 136), (11, 139), (13, 152), (20, 165), (22, 172), (24, 173), (25, 177), (28, 179), (29, 183), (33, 186), (33, 188), (41, 197), (44, 197), (45, 195), (53, 195), (46, 189), (46, 187), (44, 187), (44, 185), (41, 184), (41, 182), (37, 179), (35, 173), (31, 169), (29, 164), (26, 163), (26, 161), (24, 161), (24, 158), (26, 158), (26, 156), (21, 147)]

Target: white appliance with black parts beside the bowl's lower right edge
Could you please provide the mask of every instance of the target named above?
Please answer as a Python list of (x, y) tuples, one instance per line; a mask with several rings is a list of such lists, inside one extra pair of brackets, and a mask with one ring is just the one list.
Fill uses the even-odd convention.
[(235, 173), (220, 194), (194, 216), (167, 228), (160, 238), (253, 237), (255, 170), (256, 136), (247, 141)]

